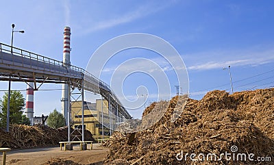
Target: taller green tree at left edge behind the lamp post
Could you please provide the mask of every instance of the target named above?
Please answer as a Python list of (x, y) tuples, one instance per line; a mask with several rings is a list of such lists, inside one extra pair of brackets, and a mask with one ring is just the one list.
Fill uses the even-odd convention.
[[(25, 99), (20, 91), (10, 92), (10, 123), (20, 124), (22, 120), (23, 107), (25, 106)], [(7, 123), (7, 109), (8, 109), (8, 92), (3, 95), (3, 100), (0, 100), (0, 127), (5, 127)]]

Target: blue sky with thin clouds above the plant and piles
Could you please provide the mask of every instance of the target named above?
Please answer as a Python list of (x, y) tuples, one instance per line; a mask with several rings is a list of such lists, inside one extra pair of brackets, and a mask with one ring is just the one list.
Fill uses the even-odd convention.
[[(228, 65), (234, 91), (274, 86), (273, 6), (271, 0), (1, 1), (0, 42), (10, 45), (15, 23), (15, 29), (24, 29), (25, 34), (14, 34), (14, 47), (62, 61), (62, 33), (70, 26), (71, 64), (86, 68), (92, 53), (104, 42), (128, 33), (153, 34), (177, 49), (188, 69), (190, 97), (201, 99), (210, 90), (230, 91), (229, 73), (222, 69)], [(110, 84), (116, 66), (130, 58), (148, 58), (166, 66), (155, 53), (129, 50), (106, 64), (103, 81)], [(177, 81), (174, 73), (167, 75), (174, 96)], [(25, 87), (12, 82), (13, 90)], [(153, 79), (141, 73), (125, 79), (127, 99), (136, 99), (138, 87), (139, 95), (149, 92), (147, 104), (159, 99)], [(41, 87), (60, 88), (60, 84)], [(7, 89), (8, 82), (0, 82), (0, 90)], [(49, 114), (54, 108), (61, 111), (60, 99), (61, 90), (35, 92), (34, 115)]]

